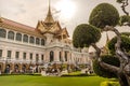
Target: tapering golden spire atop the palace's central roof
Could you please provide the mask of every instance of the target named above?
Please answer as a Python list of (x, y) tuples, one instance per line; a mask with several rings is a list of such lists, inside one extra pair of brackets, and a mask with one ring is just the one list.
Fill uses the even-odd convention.
[(47, 23), (47, 24), (52, 24), (52, 23), (54, 23), (54, 19), (53, 19), (53, 17), (52, 17), (52, 13), (51, 13), (50, 0), (49, 0), (49, 11), (48, 11), (47, 17), (46, 17), (46, 19), (44, 19), (44, 23)]

